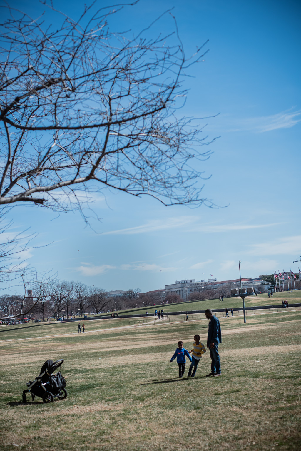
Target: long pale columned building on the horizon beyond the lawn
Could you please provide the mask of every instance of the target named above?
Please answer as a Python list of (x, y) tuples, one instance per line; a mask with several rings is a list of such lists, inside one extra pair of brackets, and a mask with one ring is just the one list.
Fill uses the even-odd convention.
[[(251, 277), (242, 278), (242, 286), (243, 288), (249, 288), (251, 286), (256, 290), (256, 285), (264, 284), (260, 278), (252, 279)], [(189, 293), (193, 291), (202, 291), (204, 288), (210, 290), (212, 288), (221, 288), (224, 285), (228, 285), (229, 288), (239, 288), (240, 279), (233, 279), (230, 281), (220, 281), (217, 279), (208, 279), (207, 281), (198, 281), (196, 282), (194, 279), (185, 279), (182, 281), (175, 281), (174, 284), (165, 285), (165, 294), (175, 293), (179, 295), (184, 301), (187, 301)]]

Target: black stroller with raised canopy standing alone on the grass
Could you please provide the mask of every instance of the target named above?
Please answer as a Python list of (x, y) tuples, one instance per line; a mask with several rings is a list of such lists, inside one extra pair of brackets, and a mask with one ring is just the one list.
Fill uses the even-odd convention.
[[(36, 396), (42, 398), (45, 404), (53, 402), (55, 398), (65, 399), (67, 398), (67, 391), (65, 390), (66, 381), (62, 376), (62, 363), (64, 360), (46, 360), (42, 366), (40, 374), (32, 382), (27, 382), (27, 390), (23, 391), (22, 400), (27, 402), (26, 393), (32, 394), (32, 400)], [(60, 367), (58, 373), (53, 374), (56, 369)]]

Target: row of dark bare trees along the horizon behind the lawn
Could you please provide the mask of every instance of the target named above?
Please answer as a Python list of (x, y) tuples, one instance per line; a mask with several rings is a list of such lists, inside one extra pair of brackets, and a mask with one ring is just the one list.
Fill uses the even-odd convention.
[[(256, 290), (267, 291), (267, 285), (256, 286)], [(231, 283), (219, 288), (210, 288), (206, 283), (190, 287), (188, 301), (215, 299), (231, 295)], [(150, 307), (154, 305), (183, 302), (178, 294), (164, 290), (141, 293), (141, 290), (129, 289), (121, 297), (110, 296), (103, 288), (85, 285), (80, 281), (51, 281), (36, 283), (32, 286), (32, 298), (26, 298), (26, 311), (31, 318), (41, 319), (54, 316), (69, 318), (84, 313), (114, 312), (128, 308)], [(1, 295), (0, 315), (7, 317), (17, 314), (23, 302), (21, 295)]]

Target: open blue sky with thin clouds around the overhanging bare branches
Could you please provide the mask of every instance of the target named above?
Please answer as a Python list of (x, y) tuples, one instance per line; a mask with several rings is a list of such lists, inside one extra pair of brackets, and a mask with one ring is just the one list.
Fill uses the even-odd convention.
[[(105, 5), (104, 2), (99, 2)], [(35, 15), (36, 1), (11, 5)], [(54, 1), (76, 18), (82, 2)], [(187, 55), (209, 39), (205, 61), (193, 66), (183, 115), (205, 120), (210, 138), (202, 162), (204, 197), (220, 208), (164, 207), (123, 193), (95, 196), (102, 218), (85, 227), (78, 212), (14, 208), (16, 230), (39, 233), (29, 262), (106, 290), (164, 288), (186, 277), (217, 280), (257, 277), (297, 265), (300, 231), (300, 17), (297, 1), (141, 0), (126, 7), (114, 26), (145, 28), (173, 8)], [(72, 12), (70, 12), (72, 11)], [(173, 27), (166, 14), (154, 34)]]

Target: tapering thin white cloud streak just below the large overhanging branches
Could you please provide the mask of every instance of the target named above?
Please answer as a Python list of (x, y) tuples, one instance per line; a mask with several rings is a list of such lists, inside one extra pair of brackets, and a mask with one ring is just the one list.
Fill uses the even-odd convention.
[(157, 230), (168, 230), (177, 227), (187, 226), (191, 222), (196, 221), (194, 216), (181, 216), (178, 218), (168, 218), (166, 220), (149, 221), (142, 226), (129, 227), (128, 229), (110, 230), (102, 235), (136, 235), (139, 233), (156, 232)]

